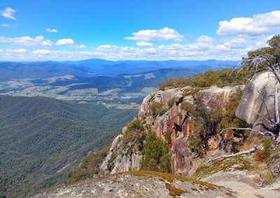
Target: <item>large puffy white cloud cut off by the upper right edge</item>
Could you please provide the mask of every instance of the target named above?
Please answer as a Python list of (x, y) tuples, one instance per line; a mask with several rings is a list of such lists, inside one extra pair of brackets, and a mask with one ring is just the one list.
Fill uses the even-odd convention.
[(216, 33), (220, 36), (261, 36), (279, 27), (280, 10), (276, 10), (253, 17), (237, 17), (230, 21), (221, 21)]

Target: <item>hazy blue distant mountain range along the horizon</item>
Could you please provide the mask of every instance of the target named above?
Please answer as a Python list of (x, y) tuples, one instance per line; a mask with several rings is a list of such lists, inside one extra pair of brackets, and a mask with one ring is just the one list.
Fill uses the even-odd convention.
[[(222, 69), (235, 66), (237, 61), (106, 61), (87, 59), (83, 61), (34, 61), (0, 62), (0, 81), (18, 78), (45, 78), (59, 75), (92, 77), (97, 75), (116, 76), (123, 73), (147, 73), (163, 68), (193, 68), (196, 70)], [(203, 66), (203, 67), (202, 67)], [(204, 69), (204, 67), (206, 67)], [(203, 69), (202, 69), (203, 68)]]

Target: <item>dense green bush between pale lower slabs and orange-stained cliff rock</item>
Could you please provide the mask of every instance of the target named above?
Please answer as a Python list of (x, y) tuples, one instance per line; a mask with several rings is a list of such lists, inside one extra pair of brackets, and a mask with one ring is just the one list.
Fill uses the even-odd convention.
[(171, 172), (169, 148), (154, 132), (148, 132), (142, 154), (141, 170)]

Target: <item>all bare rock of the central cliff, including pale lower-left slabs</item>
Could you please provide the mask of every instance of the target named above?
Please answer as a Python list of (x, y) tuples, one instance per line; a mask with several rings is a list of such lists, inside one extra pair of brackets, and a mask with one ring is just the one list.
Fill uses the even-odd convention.
[[(172, 172), (181, 175), (191, 175), (201, 164), (202, 159), (190, 151), (188, 138), (195, 132), (194, 121), (187, 118), (188, 108), (186, 104), (194, 107), (194, 98), (191, 93), (197, 92), (190, 86), (183, 88), (155, 91), (144, 98), (137, 119), (145, 121), (145, 130), (155, 132), (157, 137), (169, 142), (172, 151)], [(209, 89), (198, 91), (207, 109), (224, 107), (230, 102), (230, 96), (237, 92), (237, 87), (218, 88), (211, 86)], [(173, 105), (172, 105), (172, 102)], [(153, 114), (153, 106), (162, 108), (162, 115)], [(123, 129), (123, 132), (126, 129)], [(121, 148), (123, 135), (119, 135), (113, 141), (110, 153), (101, 166), (100, 174), (109, 173), (108, 167), (113, 164), (111, 173), (128, 170), (139, 170), (141, 151), (128, 155)], [(218, 149), (221, 137), (209, 138), (209, 148)]]

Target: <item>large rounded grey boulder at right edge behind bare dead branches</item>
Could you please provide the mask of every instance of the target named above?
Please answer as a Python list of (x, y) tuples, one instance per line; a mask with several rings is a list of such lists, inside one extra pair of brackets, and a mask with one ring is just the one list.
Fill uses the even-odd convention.
[[(280, 96), (280, 86), (275, 86), (276, 79), (272, 73), (260, 73), (248, 82), (243, 91), (241, 102), (236, 112), (236, 116), (253, 125), (253, 129), (264, 131), (262, 123), (268, 126), (265, 118), (274, 119), (274, 93), (275, 87), (278, 90), (278, 101)], [(250, 139), (258, 134), (251, 132)]]

